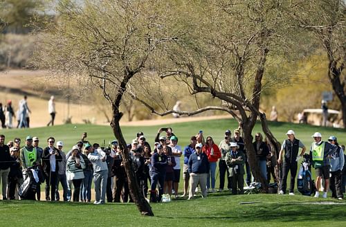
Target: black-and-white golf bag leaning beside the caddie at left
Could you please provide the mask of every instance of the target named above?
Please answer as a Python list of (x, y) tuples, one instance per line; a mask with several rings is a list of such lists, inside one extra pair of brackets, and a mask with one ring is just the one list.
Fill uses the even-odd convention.
[(18, 190), (18, 194), (21, 199), (30, 199), (33, 197), (35, 198), (37, 186), (39, 184), (39, 177), (36, 171), (37, 170), (28, 168), (28, 171), (26, 172), (26, 174), (28, 174), (28, 177)]

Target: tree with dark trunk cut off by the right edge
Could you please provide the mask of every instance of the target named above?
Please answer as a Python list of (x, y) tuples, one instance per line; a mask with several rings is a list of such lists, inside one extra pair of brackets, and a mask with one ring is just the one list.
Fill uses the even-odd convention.
[(311, 31), (319, 40), (328, 57), (328, 78), (340, 100), (343, 127), (346, 127), (346, 6), (343, 0), (297, 1), (297, 13), (291, 17), (297, 26)]

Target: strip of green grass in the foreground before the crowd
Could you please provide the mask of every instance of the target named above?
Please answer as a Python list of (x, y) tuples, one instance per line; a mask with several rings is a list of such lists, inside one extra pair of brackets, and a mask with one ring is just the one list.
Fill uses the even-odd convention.
[[(260, 203), (239, 204), (246, 201)], [(332, 201), (334, 204), (315, 204)], [(335, 204), (336, 203), (336, 204)], [(151, 204), (142, 217), (133, 204), (0, 201), (0, 217), (10, 226), (345, 226), (346, 203), (277, 194), (231, 196)], [(28, 218), (30, 217), (30, 218)], [(35, 218), (34, 218), (35, 217)]]

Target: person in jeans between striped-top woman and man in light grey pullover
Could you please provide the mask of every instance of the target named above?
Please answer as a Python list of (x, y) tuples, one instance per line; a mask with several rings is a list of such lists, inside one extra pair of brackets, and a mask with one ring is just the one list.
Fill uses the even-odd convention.
[(93, 152), (93, 146), (89, 143), (85, 145), (84, 152), (81, 152), (80, 156), (83, 158), (85, 163), (85, 168), (83, 170), (84, 179), (81, 186), (80, 199), (85, 203), (90, 203), (91, 201), (91, 184), (93, 181), (93, 163), (88, 158), (88, 155)]

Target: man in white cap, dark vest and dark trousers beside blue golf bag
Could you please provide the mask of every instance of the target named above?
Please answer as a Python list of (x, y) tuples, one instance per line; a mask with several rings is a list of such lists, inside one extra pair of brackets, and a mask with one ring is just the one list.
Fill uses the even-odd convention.
[[(277, 158), (277, 163), (282, 163), (282, 154), (284, 154), (284, 161), (282, 166), (282, 181), (280, 185), (279, 194), (286, 193), (286, 183), (287, 176), (289, 172), (291, 172), (291, 184), (289, 188), (289, 194), (293, 194), (294, 183), (295, 183), (295, 175), (297, 174), (298, 169), (298, 160), (304, 154), (306, 148), (302, 141), (295, 138), (295, 134), (293, 130), (289, 130), (286, 133), (287, 139), (282, 142), (281, 150), (279, 157)], [(298, 155), (299, 148), (302, 148), (302, 152)]]

